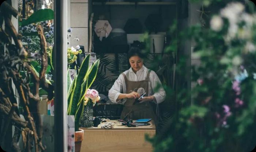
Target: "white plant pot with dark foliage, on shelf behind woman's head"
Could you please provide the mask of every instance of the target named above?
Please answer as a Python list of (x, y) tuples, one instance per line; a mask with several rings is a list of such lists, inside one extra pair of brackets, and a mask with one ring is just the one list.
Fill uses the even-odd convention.
[[(150, 52), (151, 53), (162, 53), (163, 45), (165, 43), (165, 34), (150, 34)], [(155, 47), (155, 52), (154, 52)]]

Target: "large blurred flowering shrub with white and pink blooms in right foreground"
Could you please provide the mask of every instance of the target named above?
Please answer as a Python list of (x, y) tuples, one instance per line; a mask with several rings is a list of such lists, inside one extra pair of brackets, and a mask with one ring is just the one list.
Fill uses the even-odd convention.
[(157, 152), (248, 152), (256, 145), (256, 14), (245, 3), (206, 1), (218, 11), (205, 27), (183, 32), (201, 61), (192, 67), (196, 86), (177, 96), (192, 104), (151, 139)]

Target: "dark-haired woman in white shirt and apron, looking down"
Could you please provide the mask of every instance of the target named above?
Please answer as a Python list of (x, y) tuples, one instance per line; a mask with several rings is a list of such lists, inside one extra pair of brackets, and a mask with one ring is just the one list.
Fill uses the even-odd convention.
[[(152, 118), (156, 121), (152, 104), (165, 100), (165, 90), (157, 74), (143, 66), (143, 55), (139, 48), (132, 47), (128, 58), (131, 68), (120, 74), (114, 82), (109, 90), (109, 99), (114, 103), (124, 104), (121, 119)], [(154, 92), (156, 88), (159, 89)], [(144, 93), (144, 97), (138, 100)]]

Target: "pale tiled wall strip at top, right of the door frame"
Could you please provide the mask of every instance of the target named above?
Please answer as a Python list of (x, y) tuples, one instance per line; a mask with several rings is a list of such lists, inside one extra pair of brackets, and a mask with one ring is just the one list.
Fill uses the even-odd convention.
[[(88, 51), (88, 0), (71, 0), (70, 27), (72, 28), (69, 47), (82, 45)], [(79, 41), (74, 40), (79, 38)]]

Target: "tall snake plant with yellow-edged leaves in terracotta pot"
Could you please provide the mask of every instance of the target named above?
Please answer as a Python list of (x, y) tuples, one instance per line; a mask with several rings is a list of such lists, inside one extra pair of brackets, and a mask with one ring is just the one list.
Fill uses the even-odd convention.
[[(75, 116), (75, 151), (79, 152), (83, 140), (83, 130), (79, 129), (80, 119), (84, 112), (84, 96), (93, 84), (99, 66), (99, 60), (89, 66), (90, 55), (81, 64), (78, 75), (68, 86), (68, 115)], [(70, 80), (70, 79), (69, 79)]]

